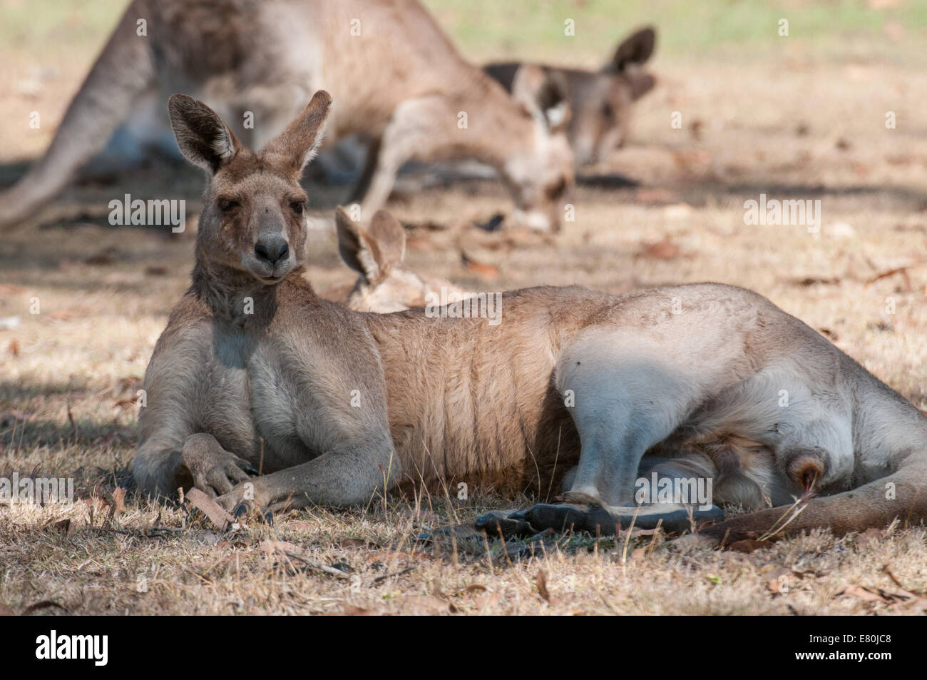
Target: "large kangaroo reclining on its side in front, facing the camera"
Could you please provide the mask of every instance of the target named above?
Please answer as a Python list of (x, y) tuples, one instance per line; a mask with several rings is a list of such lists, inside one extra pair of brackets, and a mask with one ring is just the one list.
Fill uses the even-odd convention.
[[(319, 299), (300, 276), (298, 179), (330, 102), (316, 93), (252, 152), (204, 104), (171, 97), (178, 146), (210, 180), (192, 285), (146, 370), (141, 490), (195, 485), (230, 510), (273, 511), (363, 503), (401, 481), (520, 485), (575, 465), (565, 495), (580, 505), (524, 517), (608, 532), (632, 519), (679, 528), (677, 507), (638, 516), (636, 480), (702, 466), (716, 502), (825, 494), (794, 532), (927, 517), (927, 418), (748, 290), (514, 290), (494, 326)], [(707, 531), (755, 535), (781, 512)]]

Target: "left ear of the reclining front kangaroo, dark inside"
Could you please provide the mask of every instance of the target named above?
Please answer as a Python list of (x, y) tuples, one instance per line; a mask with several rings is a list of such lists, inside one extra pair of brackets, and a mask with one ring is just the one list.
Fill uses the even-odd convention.
[(192, 96), (171, 96), (168, 112), (177, 146), (194, 165), (215, 173), (241, 150), (241, 144), (219, 114)]

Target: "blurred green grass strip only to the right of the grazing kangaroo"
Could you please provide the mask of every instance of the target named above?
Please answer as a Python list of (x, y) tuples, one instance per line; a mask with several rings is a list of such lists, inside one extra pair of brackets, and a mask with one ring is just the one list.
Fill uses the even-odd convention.
[[(923, 0), (425, 0), (468, 57), (597, 63), (634, 28), (653, 24), (669, 58), (764, 56), (783, 40), (823, 57), (923, 56)], [(565, 19), (576, 35), (565, 36)], [(789, 20), (781, 38), (780, 19)], [(898, 27), (901, 27), (901, 34)], [(888, 27), (888, 31), (886, 31)], [(892, 31), (894, 29), (894, 31)], [(891, 38), (888, 33), (891, 32)]]

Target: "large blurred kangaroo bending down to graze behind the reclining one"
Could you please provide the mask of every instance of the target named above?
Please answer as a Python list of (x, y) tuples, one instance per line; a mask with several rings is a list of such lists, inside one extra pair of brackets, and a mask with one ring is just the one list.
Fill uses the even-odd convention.
[(563, 97), (530, 66), (514, 75), (509, 96), (416, 0), (134, 0), (44, 157), (0, 194), (0, 224), (53, 197), (154, 99), (192, 91), (259, 148), (320, 88), (339, 103), (326, 142), (351, 133), (373, 140), (353, 197), (364, 215), (386, 202), (406, 160), (469, 157), (510, 189), (513, 224), (560, 225), (573, 182)]

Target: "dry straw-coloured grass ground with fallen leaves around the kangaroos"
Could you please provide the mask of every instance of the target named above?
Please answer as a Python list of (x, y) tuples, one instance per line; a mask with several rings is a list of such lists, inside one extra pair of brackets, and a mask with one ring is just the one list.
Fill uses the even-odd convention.
[[(625, 173), (640, 187), (580, 186), (577, 221), (555, 238), (506, 246), (504, 237), (489, 244), (464, 237), (471, 257), (498, 267), (492, 280), (464, 268), (448, 230), (423, 230), (410, 261), (469, 289), (578, 283), (623, 292), (706, 279), (756, 289), (927, 407), (927, 135), (917, 123), (927, 78), (899, 61), (800, 50), (743, 63), (663, 59), (661, 85), (641, 106), (632, 145), (595, 169)], [(74, 87), (80, 72), (67, 71)], [(681, 130), (669, 126), (673, 110), (683, 114)], [(884, 126), (887, 110), (896, 113), (895, 130)], [(36, 150), (29, 140), (12, 141), (7, 158)], [(199, 182), (196, 173), (156, 166), (121, 184), (72, 187), (36, 225), (0, 244), (0, 317), (21, 319), (19, 328), (0, 330), (0, 476), (73, 476), (87, 499), (0, 507), (0, 603), (16, 611), (52, 600), (72, 613), (153, 614), (917, 610), (839, 594), (854, 584), (897, 590), (885, 565), (908, 590), (927, 590), (927, 532), (918, 527), (864, 539), (819, 532), (750, 555), (673, 550), (660, 536), (627, 545), (566, 536), (531, 556), (524, 544), (498, 542), (489, 551), (415, 548), (414, 536), (429, 527), (529, 502), (482, 490), (465, 502), (390, 496), (226, 533), (130, 491), (124, 511), (109, 518), (113, 489), (131, 488), (129, 400), (187, 286), (192, 239), (105, 225), (106, 202), (131, 189), (185, 196), (192, 205)], [(338, 191), (316, 191), (317, 204), (332, 204)], [(820, 199), (819, 236), (744, 225), (743, 200), (760, 193)], [(457, 225), (506, 206), (499, 186), (482, 183), (415, 193), (392, 209), (413, 224)], [(665, 237), (678, 255), (649, 256), (645, 245)], [(310, 260), (320, 288), (350, 277), (326, 233), (312, 239)], [(909, 268), (871, 281), (899, 267)], [(32, 297), (41, 314), (30, 314)], [(890, 298), (894, 314), (886, 312)], [(70, 520), (70, 531), (61, 520)], [(343, 574), (269, 553), (261, 547), (268, 540)], [(540, 571), (551, 602), (540, 596)], [(774, 593), (768, 581), (782, 573), (788, 591)]]

